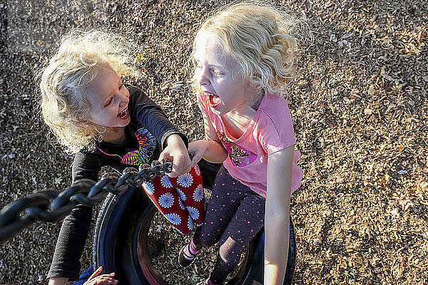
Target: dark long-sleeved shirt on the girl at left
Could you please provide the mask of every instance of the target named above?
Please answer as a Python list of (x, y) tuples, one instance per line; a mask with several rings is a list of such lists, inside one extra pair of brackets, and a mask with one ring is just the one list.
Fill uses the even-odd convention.
[[(128, 110), (131, 115), (131, 121), (125, 127), (126, 142), (121, 145), (100, 142), (94, 151), (81, 150), (76, 153), (73, 161), (73, 182), (82, 178), (97, 181), (98, 172), (105, 165), (113, 167), (118, 172), (130, 166), (138, 168), (138, 162), (131, 165), (123, 160), (127, 154), (128, 157), (129, 153), (132, 156), (138, 150), (143, 152), (140, 157), (147, 160), (143, 162), (150, 164), (158, 159), (164, 141), (172, 134), (180, 135), (185, 145), (188, 145), (185, 135), (170, 123), (161, 107), (148, 98), (141, 89), (134, 86), (126, 87), (130, 93)], [(145, 136), (143, 140), (137, 138), (138, 132), (140, 137)], [(91, 227), (91, 218), (92, 207), (78, 205), (63, 220), (48, 278), (63, 277), (71, 281), (78, 280), (81, 269), (80, 258)]]

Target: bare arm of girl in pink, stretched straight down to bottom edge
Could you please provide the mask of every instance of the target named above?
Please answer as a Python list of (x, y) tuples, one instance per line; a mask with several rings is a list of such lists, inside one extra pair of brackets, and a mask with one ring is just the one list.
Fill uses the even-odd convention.
[(267, 158), (264, 285), (284, 282), (290, 242), (290, 196), (294, 146)]

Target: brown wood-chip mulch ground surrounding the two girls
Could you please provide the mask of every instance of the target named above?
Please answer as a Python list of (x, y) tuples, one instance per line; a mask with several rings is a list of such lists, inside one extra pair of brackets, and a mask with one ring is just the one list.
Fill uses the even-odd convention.
[[(1, 2), (0, 207), (70, 182), (72, 157), (46, 138), (34, 82), (61, 33), (104, 27), (136, 41), (134, 84), (194, 140), (203, 125), (187, 83), (191, 42), (224, 2)], [(292, 195), (294, 284), (427, 284), (427, 1), (274, 2), (312, 30), (288, 95), (305, 171)], [(1, 244), (0, 284), (47, 284), (60, 227), (36, 222)]]

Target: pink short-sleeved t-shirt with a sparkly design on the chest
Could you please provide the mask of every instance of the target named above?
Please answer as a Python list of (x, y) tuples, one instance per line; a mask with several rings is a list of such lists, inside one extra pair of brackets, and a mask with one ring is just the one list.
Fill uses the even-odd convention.
[[(240, 138), (233, 138), (219, 115), (215, 115), (208, 96), (200, 93), (198, 105), (210, 118), (218, 138), (229, 152), (224, 167), (236, 180), (254, 192), (266, 197), (267, 156), (296, 144), (287, 101), (277, 95), (265, 93), (250, 125)], [(291, 192), (302, 183), (302, 169), (296, 165), (300, 152), (295, 150), (292, 161)]]

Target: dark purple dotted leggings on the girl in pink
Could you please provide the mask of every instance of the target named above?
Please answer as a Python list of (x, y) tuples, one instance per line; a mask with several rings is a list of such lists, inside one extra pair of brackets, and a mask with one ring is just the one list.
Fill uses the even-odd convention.
[(210, 281), (220, 284), (235, 268), (245, 245), (263, 227), (265, 198), (233, 178), (225, 167), (215, 177), (203, 224), (193, 236), (198, 249), (220, 241)]

